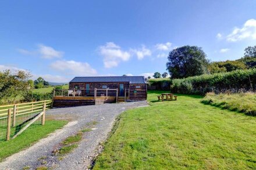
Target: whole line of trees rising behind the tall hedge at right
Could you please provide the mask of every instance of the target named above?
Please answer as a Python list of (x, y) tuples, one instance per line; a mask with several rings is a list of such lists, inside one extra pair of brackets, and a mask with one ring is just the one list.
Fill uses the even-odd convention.
[[(244, 56), (240, 59), (210, 62), (202, 48), (186, 45), (169, 52), (168, 62), (166, 63), (166, 70), (168, 70), (172, 79), (202, 74), (225, 73), (234, 70), (247, 70), (255, 67), (256, 46), (248, 46), (244, 49)], [(168, 77), (168, 73), (163, 74), (163, 78)], [(156, 72), (153, 77), (161, 78), (161, 74)]]

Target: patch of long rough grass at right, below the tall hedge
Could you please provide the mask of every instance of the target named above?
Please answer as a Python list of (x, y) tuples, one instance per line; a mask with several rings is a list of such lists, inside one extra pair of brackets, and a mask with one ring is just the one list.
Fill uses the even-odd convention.
[(226, 108), (232, 111), (240, 111), (247, 115), (256, 115), (256, 93), (207, 93), (202, 103), (212, 106)]

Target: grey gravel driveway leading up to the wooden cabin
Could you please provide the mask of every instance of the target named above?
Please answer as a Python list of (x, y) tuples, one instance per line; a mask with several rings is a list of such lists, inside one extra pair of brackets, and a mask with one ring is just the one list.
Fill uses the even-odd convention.
[[(108, 137), (116, 116), (129, 108), (143, 106), (147, 106), (147, 102), (101, 104), (48, 110), (48, 118), (70, 120), (70, 122), (64, 128), (55, 131), (45, 139), (41, 139), (30, 148), (6, 158), (4, 162), (0, 163), (0, 169), (23, 169), (24, 167), (35, 169), (40, 166), (53, 169), (86, 169), (98, 151), (101, 150), (100, 143)], [(97, 122), (97, 124), (93, 125), (93, 131), (83, 134), (83, 139), (77, 149), (65, 155), (62, 160), (52, 154), (52, 151), (59, 149), (59, 143), (62, 140), (88, 126), (90, 122)]]

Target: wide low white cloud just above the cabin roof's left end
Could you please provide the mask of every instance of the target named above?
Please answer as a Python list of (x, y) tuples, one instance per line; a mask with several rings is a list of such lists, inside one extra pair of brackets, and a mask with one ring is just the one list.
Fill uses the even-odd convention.
[(91, 68), (90, 64), (75, 62), (73, 60), (57, 60), (50, 66), (54, 70), (61, 71), (66, 75), (91, 76), (97, 74), (97, 71), (94, 68)]

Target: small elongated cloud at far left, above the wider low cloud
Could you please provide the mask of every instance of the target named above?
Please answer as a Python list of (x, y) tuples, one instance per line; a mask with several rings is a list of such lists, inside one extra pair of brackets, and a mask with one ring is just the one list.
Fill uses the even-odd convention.
[(26, 49), (17, 49), (19, 53), (22, 55), (37, 55), (41, 56), (44, 59), (53, 59), (53, 58), (61, 58), (64, 55), (64, 52), (55, 50), (51, 46), (38, 45), (38, 49), (36, 50), (26, 50)]

